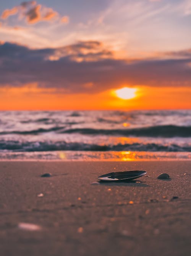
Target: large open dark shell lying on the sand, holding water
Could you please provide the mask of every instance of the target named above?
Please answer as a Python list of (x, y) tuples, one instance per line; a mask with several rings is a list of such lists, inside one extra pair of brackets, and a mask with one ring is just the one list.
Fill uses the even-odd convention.
[(124, 172), (110, 172), (106, 173), (104, 175), (99, 176), (99, 180), (102, 181), (128, 181), (128, 180), (134, 180), (136, 178), (139, 178), (143, 175), (145, 175), (146, 171), (124, 171)]

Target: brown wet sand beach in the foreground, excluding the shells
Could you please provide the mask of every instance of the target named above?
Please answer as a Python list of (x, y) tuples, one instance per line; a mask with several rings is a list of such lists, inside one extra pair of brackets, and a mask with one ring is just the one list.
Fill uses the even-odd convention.
[[(132, 169), (150, 177), (91, 184), (101, 174)], [(171, 180), (157, 179), (162, 172)], [(2, 161), (0, 255), (191, 255), (190, 181), (191, 161)]]

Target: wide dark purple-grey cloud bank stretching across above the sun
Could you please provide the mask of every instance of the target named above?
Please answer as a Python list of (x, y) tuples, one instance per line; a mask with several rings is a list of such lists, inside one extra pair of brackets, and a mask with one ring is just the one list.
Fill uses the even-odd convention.
[(190, 52), (171, 52), (165, 59), (129, 61), (115, 59), (99, 41), (40, 50), (2, 43), (0, 87), (37, 83), (39, 88), (91, 93), (124, 85), (191, 86)]

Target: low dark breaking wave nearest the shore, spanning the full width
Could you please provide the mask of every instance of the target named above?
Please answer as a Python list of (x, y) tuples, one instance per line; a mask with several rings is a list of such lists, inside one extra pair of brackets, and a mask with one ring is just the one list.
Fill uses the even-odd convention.
[(0, 150), (10, 150), (12, 152), (34, 152), (34, 151), (166, 151), (166, 152), (191, 152), (191, 145), (177, 144), (157, 144), (157, 143), (132, 143), (132, 144), (117, 144), (117, 145), (97, 145), (79, 142), (65, 141), (43, 141), (43, 142), (28, 142), (19, 140), (0, 140)]

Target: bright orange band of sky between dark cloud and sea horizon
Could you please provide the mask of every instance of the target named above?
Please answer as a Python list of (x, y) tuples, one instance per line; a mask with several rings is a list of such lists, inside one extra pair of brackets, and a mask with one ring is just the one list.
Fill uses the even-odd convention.
[(191, 88), (137, 87), (132, 99), (120, 99), (115, 89), (95, 94), (58, 93), (35, 84), (0, 89), (1, 110), (191, 109)]

